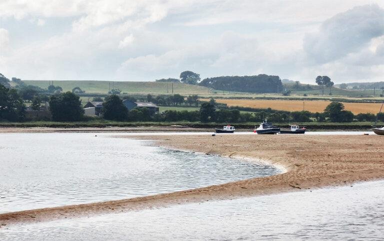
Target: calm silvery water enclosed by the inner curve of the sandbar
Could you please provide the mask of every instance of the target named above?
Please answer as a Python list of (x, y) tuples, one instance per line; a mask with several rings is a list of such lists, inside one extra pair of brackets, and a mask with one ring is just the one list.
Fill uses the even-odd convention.
[(281, 172), (109, 135), (0, 134), (0, 213), (147, 196)]

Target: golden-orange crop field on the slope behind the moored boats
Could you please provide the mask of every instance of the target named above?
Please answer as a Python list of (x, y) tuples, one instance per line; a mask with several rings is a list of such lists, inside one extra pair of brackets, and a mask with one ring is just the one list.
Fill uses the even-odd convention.
[[(208, 99), (201, 99), (208, 101)], [(323, 112), (330, 101), (325, 100), (244, 100), (244, 99), (215, 99), (217, 103), (227, 104), (228, 106), (242, 106), (251, 108), (271, 108), (275, 110), (285, 111), (301, 111)], [(344, 103), (345, 110), (351, 111), (353, 114), (373, 113), (376, 114), (380, 103)]]

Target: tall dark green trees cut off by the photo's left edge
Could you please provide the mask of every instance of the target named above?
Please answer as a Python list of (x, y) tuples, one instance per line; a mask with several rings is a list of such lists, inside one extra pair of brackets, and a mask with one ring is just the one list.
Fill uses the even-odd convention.
[(24, 120), (25, 106), (15, 89), (0, 84), (0, 121)]

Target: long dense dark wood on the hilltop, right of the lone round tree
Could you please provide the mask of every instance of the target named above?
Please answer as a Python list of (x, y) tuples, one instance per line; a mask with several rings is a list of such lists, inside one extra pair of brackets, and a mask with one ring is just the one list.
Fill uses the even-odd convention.
[(280, 77), (266, 74), (206, 78), (199, 85), (217, 90), (252, 93), (278, 93), (282, 90)]

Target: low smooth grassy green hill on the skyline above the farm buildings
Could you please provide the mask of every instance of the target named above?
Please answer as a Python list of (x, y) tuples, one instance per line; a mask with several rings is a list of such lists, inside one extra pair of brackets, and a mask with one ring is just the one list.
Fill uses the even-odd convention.
[[(25, 84), (47, 88), (47, 80), (24, 80)], [(86, 94), (107, 94), (109, 88), (120, 89), (127, 94), (171, 94), (172, 84), (167, 82), (112, 82), (94, 80), (53, 80), (53, 85), (60, 86), (63, 91), (71, 91), (74, 87), (80, 87)], [(109, 87), (110, 86), (110, 87)], [(174, 94), (209, 94), (210, 89), (198, 85), (173, 83)]]

